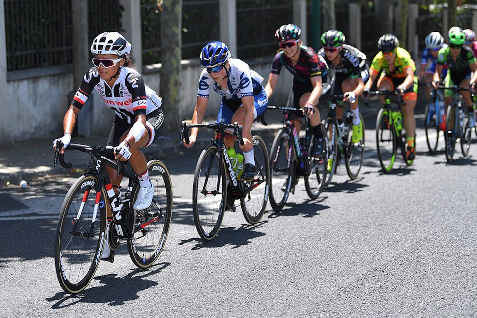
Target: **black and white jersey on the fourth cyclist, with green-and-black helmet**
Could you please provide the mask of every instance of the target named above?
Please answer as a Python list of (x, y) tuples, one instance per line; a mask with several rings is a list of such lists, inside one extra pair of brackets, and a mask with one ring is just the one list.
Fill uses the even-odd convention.
[(341, 59), (338, 65), (334, 65), (332, 61), (328, 60), (323, 48), (318, 51), (318, 54), (323, 57), (328, 67), (334, 70), (336, 74), (343, 74), (346, 77), (361, 77), (361, 71), (367, 68), (366, 55), (351, 45), (343, 44), (343, 50), (340, 52)]

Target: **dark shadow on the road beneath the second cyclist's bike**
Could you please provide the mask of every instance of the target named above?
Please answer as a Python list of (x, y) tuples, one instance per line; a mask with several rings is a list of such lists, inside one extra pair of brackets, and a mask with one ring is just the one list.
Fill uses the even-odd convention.
[(252, 243), (252, 240), (264, 236), (265, 233), (256, 229), (262, 227), (268, 221), (261, 221), (254, 225), (243, 224), (240, 227), (221, 227), (217, 236), (211, 241), (205, 241), (202, 238), (190, 238), (180, 241), (179, 245), (195, 243), (191, 250), (203, 248), (217, 248), (231, 245), (232, 249), (239, 248)]

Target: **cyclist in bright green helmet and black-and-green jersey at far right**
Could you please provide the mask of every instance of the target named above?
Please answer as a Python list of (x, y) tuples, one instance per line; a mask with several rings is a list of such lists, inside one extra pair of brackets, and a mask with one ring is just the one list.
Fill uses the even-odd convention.
[[(445, 78), (445, 85), (452, 86), (458, 85), (460, 87), (471, 87), (473, 91), (475, 91), (475, 86), (477, 82), (477, 64), (476, 58), (472, 53), (472, 50), (466, 46), (464, 46), (466, 40), (466, 36), (464, 32), (455, 31), (449, 34), (449, 46), (446, 48), (442, 48), (439, 50), (437, 55), (437, 68), (436, 72), (434, 73), (434, 81), (432, 84), (434, 87), (438, 87), (440, 78), (439, 75), (441, 74), (443, 65), (446, 63), (448, 70), (447, 75)], [(471, 72), (472, 78), (471, 78)], [(472, 127), (476, 123), (474, 110), (472, 107), (472, 99), (469, 91), (460, 91), (460, 94), (464, 98), (464, 102), (469, 110), (470, 122), (469, 125)], [(454, 92), (451, 90), (444, 90), (444, 102), (446, 104), (446, 111), (447, 107), (449, 106), (450, 102), (452, 101), (452, 96)], [(453, 121), (449, 119), (449, 124), (452, 126)], [(451, 136), (452, 131), (448, 132)], [(452, 138), (448, 138), (448, 140), (452, 140)]]

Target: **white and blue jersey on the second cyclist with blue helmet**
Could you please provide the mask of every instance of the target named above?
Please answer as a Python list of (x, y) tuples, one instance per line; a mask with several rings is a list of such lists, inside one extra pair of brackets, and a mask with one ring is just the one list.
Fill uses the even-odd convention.
[(215, 82), (206, 69), (202, 70), (199, 80), (198, 97), (209, 98), (210, 87), (225, 99), (241, 99), (253, 96), (253, 92), (262, 87), (263, 77), (250, 69), (250, 66), (240, 59), (229, 59), (230, 71), (227, 87), (221, 87)]

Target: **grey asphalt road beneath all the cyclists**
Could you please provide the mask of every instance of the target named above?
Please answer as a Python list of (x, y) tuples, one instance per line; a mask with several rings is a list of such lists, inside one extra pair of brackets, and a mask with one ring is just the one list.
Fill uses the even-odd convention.
[(61, 290), (53, 261), (58, 212), (77, 176), (0, 189), (0, 316), (476, 317), (477, 144), (447, 165), (442, 151), (427, 155), (418, 129), (414, 165), (398, 159), (385, 175), (374, 119), (366, 124), (357, 180), (341, 165), (315, 201), (300, 181), (281, 213), (268, 205), (250, 226), (240, 208), (227, 212), (208, 243), (191, 210), (201, 149), (161, 158), (174, 211), (157, 265), (138, 270), (120, 247), (80, 295)]

